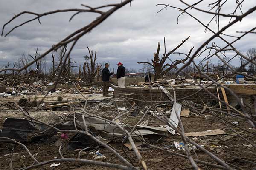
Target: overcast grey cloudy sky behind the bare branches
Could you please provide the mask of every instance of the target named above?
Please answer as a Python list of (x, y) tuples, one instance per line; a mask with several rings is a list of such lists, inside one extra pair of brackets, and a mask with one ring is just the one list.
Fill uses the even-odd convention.
[[(214, 0), (207, 0), (208, 3)], [(80, 4), (90, 6), (99, 6), (107, 3), (120, 2), (120, 0), (0, 0), (0, 26), (10, 20), (14, 14), (21, 11), (33, 11), (43, 13), (55, 9), (66, 8), (84, 8)], [(194, 0), (186, 0), (192, 4)], [(235, 0), (228, 0), (222, 13), (228, 14), (235, 5)], [(97, 51), (97, 62), (110, 62), (111, 68), (116, 68), (117, 62), (123, 62), (126, 68), (135, 68), (139, 70), (142, 65), (137, 62), (146, 61), (153, 57), (157, 49), (157, 42), (160, 42), (163, 47), (163, 38), (166, 38), (167, 51), (172, 50), (178, 45), (181, 40), (191, 36), (190, 39), (178, 50), (179, 52), (188, 53), (189, 49), (195, 46), (199, 47), (207, 38), (212, 36), (212, 33), (204, 32), (204, 27), (188, 15), (183, 15), (177, 24), (177, 16), (180, 11), (168, 8), (161, 11), (157, 3), (168, 3), (172, 6), (184, 7), (178, 0), (134, 0), (130, 5), (127, 5), (114, 14), (112, 14), (102, 24), (94, 28), (90, 33), (84, 35), (71, 53), (72, 59), (77, 64), (84, 62), (83, 56), (88, 55), (87, 46)], [(256, 5), (256, 0), (245, 0), (243, 3), (243, 11), (247, 11), (252, 6)], [(207, 4), (204, 3), (198, 6), (207, 10)], [(209, 22), (210, 15), (202, 14), (198, 11), (191, 11), (195, 17), (198, 17), (203, 23)], [(225, 33), (231, 35), (239, 35), (236, 31), (247, 31), (256, 24), (256, 12), (244, 18), (241, 22), (236, 23), (229, 28)], [(23, 51), (34, 54), (38, 47), (39, 52), (43, 53), (62, 40), (73, 31), (90, 23), (97, 14), (83, 13), (77, 15), (71, 22), (69, 18), (73, 13), (53, 14), (41, 18), (41, 25), (37, 20), (28, 23), (20, 28), (17, 28), (7, 37), (0, 37), (0, 65), (21, 57)], [(240, 13), (239, 13), (240, 14)], [(13, 26), (22, 23), (23, 21), (34, 16), (26, 14), (14, 20), (6, 27), (4, 33), (10, 30)], [(228, 19), (221, 17), (221, 27), (228, 23)], [(218, 31), (216, 24), (211, 24), (215, 31)], [(228, 38), (232, 40), (232, 38)], [(224, 45), (219, 40), (214, 42)], [(235, 43), (235, 47), (241, 51), (247, 51), (249, 48), (256, 47), (255, 35), (248, 35)], [(161, 48), (163, 54), (163, 48)], [(227, 53), (232, 56), (233, 53)], [(170, 59), (183, 59), (182, 56), (171, 55)], [(50, 63), (51, 56), (47, 56), (47, 61)], [(218, 59), (213, 59), (217, 62)], [(233, 62), (236, 65), (236, 62)]]

